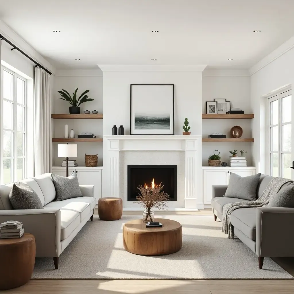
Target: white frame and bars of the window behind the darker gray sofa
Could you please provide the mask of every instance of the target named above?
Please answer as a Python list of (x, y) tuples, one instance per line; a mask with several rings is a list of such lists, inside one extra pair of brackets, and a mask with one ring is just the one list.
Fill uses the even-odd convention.
[[(283, 151), (283, 126), (285, 125), (291, 125), (292, 126), (292, 117), (291, 121), (284, 122), (283, 123), (283, 98), (292, 96), (292, 90), (291, 88), (285, 88), (282, 91), (276, 92), (275, 94), (268, 97), (268, 124), (267, 124), (267, 137), (268, 137), (268, 175), (272, 176), (272, 165), (271, 165), (271, 154), (275, 153), (278, 154), (278, 176), (283, 177), (284, 176), (284, 168), (283, 168), (283, 154), (291, 154), (292, 155), (292, 142), (291, 142), (291, 151)], [(271, 124), (271, 102), (278, 100), (278, 123), (277, 124)], [(292, 103), (292, 101), (291, 101)], [(272, 146), (272, 136), (271, 136), (271, 130), (273, 127), (278, 127), (278, 151), (271, 151)], [(291, 133), (292, 133), (291, 128)], [(292, 141), (292, 140), (291, 140)]]

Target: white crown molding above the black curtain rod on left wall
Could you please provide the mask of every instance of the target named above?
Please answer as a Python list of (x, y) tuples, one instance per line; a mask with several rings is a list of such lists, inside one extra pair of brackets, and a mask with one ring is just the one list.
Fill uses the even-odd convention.
[[(50, 64), (41, 54), (39, 54), (32, 46), (30, 46), (24, 39), (21, 38), (15, 31), (9, 28), (3, 21), (0, 20), (0, 34), (6, 39), (15, 44), (19, 49), (24, 51), (32, 59), (36, 60), (39, 64), (43, 65), (52, 72), (55, 73), (55, 67)], [(9, 45), (10, 46), (10, 45)], [(26, 58), (26, 57), (24, 57)]]

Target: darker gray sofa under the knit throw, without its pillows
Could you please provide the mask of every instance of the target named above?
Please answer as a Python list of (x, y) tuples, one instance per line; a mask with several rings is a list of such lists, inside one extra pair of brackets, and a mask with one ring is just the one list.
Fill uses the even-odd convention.
[[(260, 197), (273, 177), (261, 175), (256, 197)], [(284, 184), (288, 186), (289, 183)], [(290, 183), (293, 185), (293, 183)], [(282, 188), (284, 187), (282, 186)], [(223, 206), (248, 200), (223, 197), (228, 186), (213, 186), (212, 211), (214, 220), (223, 218)], [(262, 269), (264, 257), (294, 256), (294, 208), (260, 207), (238, 208), (231, 213), (234, 234), (257, 256)]]

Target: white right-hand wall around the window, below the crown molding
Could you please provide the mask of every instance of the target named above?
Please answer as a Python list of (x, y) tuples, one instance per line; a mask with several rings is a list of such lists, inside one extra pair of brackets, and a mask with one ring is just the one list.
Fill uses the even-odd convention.
[[(293, 64), (294, 49), (291, 49), (251, 76), (251, 111), (254, 113), (251, 128), (255, 138), (252, 163), (258, 168), (257, 172), (267, 174), (267, 99), (263, 96), (283, 86), (294, 84)], [(292, 113), (294, 113), (293, 102)], [(294, 121), (293, 116), (292, 121)], [(293, 135), (294, 132), (292, 132), (292, 142), (294, 142)], [(294, 160), (293, 153), (292, 160)], [(293, 176), (292, 171), (292, 178)]]

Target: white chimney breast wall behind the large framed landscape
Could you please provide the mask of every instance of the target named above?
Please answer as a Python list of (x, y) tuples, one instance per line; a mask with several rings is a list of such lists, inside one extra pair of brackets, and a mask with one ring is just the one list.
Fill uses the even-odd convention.
[[(103, 70), (103, 67), (102, 67)], [(103, 135), (111, 135), (113, 125), (123, 125), (130, 134), (130, 85), (174, 84), (175, 135), (181, 135), (185, 118), (189, 119), (191, 135), (201, 135), (202, 76), (201, 71), (103, 71)], [(148, 103), (148, 101), (146, 101)], [(144, 107), (142, 105), (142, 107)], [(156, 107), (156, 106), (155, 106)], [(103, 195), (109, 195), (109, 151), (103, 142)], [(199, 151), (201, 156), (201, 150)]]

